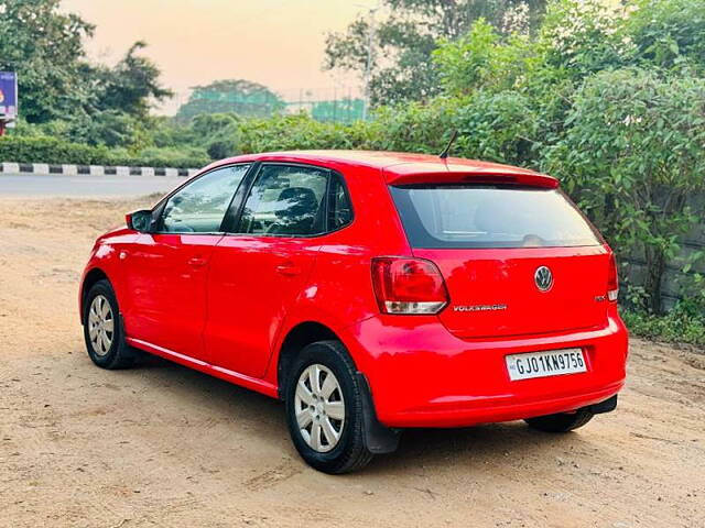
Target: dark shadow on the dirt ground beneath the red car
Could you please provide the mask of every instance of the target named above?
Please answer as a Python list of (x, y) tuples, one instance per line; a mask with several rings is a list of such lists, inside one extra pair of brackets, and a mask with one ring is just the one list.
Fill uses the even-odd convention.
[[(236, 424), (247, 422), (258, 435), (258, 441), (281, 449), (297, 459), (286, 429), (281, 402), (234, 385), (208, 374), (167, 360), (147, 355), (134, 371), (150, 378), (150, 385), (167, 387), (170, 399), (183, 397), (202, 416), (220, 417)], [(158, 389), (156, 387), (154, 388)], [(557, 455), (566, 449), (581, 450), (589, 441), (581, 433), (552, 435), (530, 429), (523, 421), (487, 424), (452, 429), (404, 429), (399, 449), (378, 455), (362, 474), (398, 474), (400, 470), (440, 471), (458, 465), (471, 468), (484, 463), (500, 463)], [(587, 446), (583, 446), (587, 448)], [(301, 461), (304, 464), (303, 461)], [(359, 474), (358, 473), (358, 474)]]

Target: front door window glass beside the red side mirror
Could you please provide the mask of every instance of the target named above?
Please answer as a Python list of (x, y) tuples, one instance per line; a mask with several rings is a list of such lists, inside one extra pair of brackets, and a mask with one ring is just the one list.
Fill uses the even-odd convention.
[(169, 198), (162, 213), (161, 232), (213, 233), (220, 231), (232, 195), (249, 165), (235, 165), (200, 176)]

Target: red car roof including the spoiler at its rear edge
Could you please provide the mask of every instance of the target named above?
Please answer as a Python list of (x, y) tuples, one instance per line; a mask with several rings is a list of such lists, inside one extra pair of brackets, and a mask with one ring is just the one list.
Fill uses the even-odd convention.
[(382, 170), (389, 184), (417, 183), (514, 183), (540, 187), (557, 187), (558, 182), (545, 174), (500, 163), (448, 157), (430, 154), (383, 151), (290, 151), (246, 154), (223, 160), (209, 167), (236, 162), (285, 161), (316, 164), (373, 167)]

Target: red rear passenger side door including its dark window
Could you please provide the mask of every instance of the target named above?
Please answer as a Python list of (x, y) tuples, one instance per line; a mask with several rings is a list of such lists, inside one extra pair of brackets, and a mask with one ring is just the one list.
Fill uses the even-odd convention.
[(271, 343), (321, 248), (329, 174), (305, 165), (260, 166), (234, 232), (210, 263), (206, 345), (216, 366), (264, 374)]

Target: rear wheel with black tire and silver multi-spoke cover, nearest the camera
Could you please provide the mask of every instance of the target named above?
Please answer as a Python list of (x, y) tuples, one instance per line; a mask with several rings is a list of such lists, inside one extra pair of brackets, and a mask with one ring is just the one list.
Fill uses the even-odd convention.
[(340, 474), (372, 460), (364, 439), (362, 389), (338, 341), (308, 344), (294, 360), (284, 394), (286, 422), (296, 451), (308, 465)]

